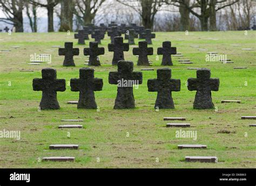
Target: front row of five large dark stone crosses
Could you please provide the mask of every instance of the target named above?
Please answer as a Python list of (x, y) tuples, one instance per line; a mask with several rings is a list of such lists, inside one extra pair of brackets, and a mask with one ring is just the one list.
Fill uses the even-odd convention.
[[(117, 71), (109, 73), (109, 83), (117, 84), (117, 96), (114, 102), (114, 109), (135, 108), (133, 97), (133, 85), (142, 84), (142, 72), (133, 71), (132, 61), (119, 61)], [(197, 70), (197, 78), (188, 78), (188, 90), (196, 90), (194, 109), (212, 109), (211, 91), (218, 91), (219, 79), (210, 78), (210, 69), (201, 68)], [(120, 82), (125, 82), (124, 84)], [(128, 82), (128, 83), (127, 83)], [(102, 78), (94, 76), (94, 69), (79, 69), (79, 78), (71, 78), (71, 91), (79, 91), (77, 108), (96, 109), (94, 91), (103, 88)], [(148, 90), (158, 92), (154, 108), (174, 109), (172, 91), (180, 91), (180, 80), (171, 78), (170, 68), (157, 69), (157, 78), (147, 81)], [(57, 91), (65, 91), (65, 80), (57, 79), (56, 69), (42, 69), (42, 78), (33, 79), (33, 90), (43, 91), (39, 107), (45, 109), (59, 109)]]

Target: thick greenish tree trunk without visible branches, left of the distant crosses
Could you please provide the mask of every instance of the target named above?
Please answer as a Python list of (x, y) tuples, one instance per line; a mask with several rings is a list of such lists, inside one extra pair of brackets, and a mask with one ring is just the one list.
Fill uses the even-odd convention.
[(73, 31), (73, 12), (75, 11), (75, 1), (61, 1), (60, 2), (60, 32)]

